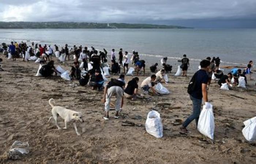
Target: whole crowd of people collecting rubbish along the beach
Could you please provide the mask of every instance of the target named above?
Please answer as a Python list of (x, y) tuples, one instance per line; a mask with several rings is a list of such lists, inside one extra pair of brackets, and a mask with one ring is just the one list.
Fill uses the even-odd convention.
[[(50, 77), (54, 73), (55, 75), (61, 74), (61, 70), (54, 66), (54, 61), (52, 60), (53, 55), (62, 63), (68, 60), (74, 60), (68, 76), (73, 80), (78, 80), (81, 86), (89, 85), (93, 90), (103, 90), (102, 101), (105, 103), (105, 115), (103, 118), (105, 120), (109, 120), (110, 100), (113, 95), (116, 95), (116, 114), (114, 118), (118, 118), (123, 107), (124, 97), (135, 100), (141, 98), (143, 94), (148, 94), (150, 90), (153, 95), (160, 95), (161, 93), (159, 93), (154, 86), (158, 83), (168, 84), (169, 78), (167, 77), (167, 73), (172, 71), (172, 66), (167, 64), (167, 57), (161, 59), (161, 69), (158, 69), (158, 63), (150, 66), (151, 76), (142, 80), (140, 88), (143, 94), (139, 94), (139, 77), (132, 78), (128, 83), (125, 82), (125, 74), (129, 74), (129, 69), (134, 70), (137, 76), (139, 76), (142, 70), (143, 76), (145, 76), (146, 61), (140, 59), (138, 52), (133, 50), (131, 58), (129, 58), (128, 51), (123, 52), (123, 49), (120, 48), (118, 55), (116, 55), (115, 49), (112, 49), (109, 56), (111, 60), (109, 66), (108, 52), (105, 48), (103, 48), (102, 51), (98, 51), (94, 47), (91, 47), (91, 50), (89, 50), (86, 46), (78, 47), (74, 45), (69, 47), (68, 44), (59, 48), (55, 44), (54, 49), (55, 50), (53, 50), (50, 45), (46, 44), (42, 46), (41, 44), (34, 44), (33, 42), (31, 45), (27, 45), (24, 42), (19, 44), (11, 42), (8, 46), (3, 43), (0, 52), (8, 59), (12, 58), (14, 61), (16, 58), (22, 58), (23, 61), (27, 60), (27, 54), (30, 58), (31, 56), (35, 56), (42, 65), (39, 69), (39, 73), (42, 77)], [(116, 56), (118, 56), (118, 59)], [(129, 66), (130, 62), (132, 66)], [(189, 59), (186, 54), (183, 55), (180, 62), (181, 65), (179, 68), (182, 69), (182, 76), (187, 77)], [(212, 79), (218, 79), (217, 81), (220, 87), (225, 83), (231, 86), (231, 81), (233, 81), (234, 85), (238, 85), (240, 83), (238, 80), (240, 77), (244, 78), (247, 83), (246, 75), (249, 75), (250, 80), (252, 79), (251, 69), (253, 61), (249, 61), (248, 66), (244, 70), (234, 68), (227, 75), (224, 75), (223, 71), (220, 69), (220, 63), (221, 59), (219, 57), (207, 57), (200, 62), (199, 70), (192, 76), (188, 85), (188, 93), (192, 100), (193, 113), (182, 124), (180, 128), (182, 132), (188, 133), (187, 126), (193, 120), (196, 120), (197, 125), (201, 112), (202, 99), (205, 102), (206, 108), (210, 108), (211, 104), (208, 101), (207, 90), (211, 85)], [(123, 71), (121, 70), (122, 67)], [(119, 78), (111, 78), (110, 81), (107, 82), (105, 76), (110, 74), (119, 75)]]

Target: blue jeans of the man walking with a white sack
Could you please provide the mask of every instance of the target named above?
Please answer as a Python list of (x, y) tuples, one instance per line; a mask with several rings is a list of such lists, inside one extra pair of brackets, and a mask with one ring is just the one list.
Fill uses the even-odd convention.
[(196, 127), (198, 123), (198, 119), (201, 113), (201, 104), (202, 99), (197, 99), (189, 95), (190, 99), (193, 103), (193, 113), (187, 118), (187, 120), (182, 124), (184, 128), (187, 128), (187, 126), (192, 122), (194, 119), (196, 120)]

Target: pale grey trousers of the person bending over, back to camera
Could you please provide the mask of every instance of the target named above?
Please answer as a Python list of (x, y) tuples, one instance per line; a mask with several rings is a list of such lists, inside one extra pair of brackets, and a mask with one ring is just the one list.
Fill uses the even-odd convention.
[(124, 91), (119, 86), (112, 86), (108, 89), (106, 94), (106, 102), (105, 102), (105, 111), (109, 112), (110, 110), (110, 98), (112, 95), (116, 95), (116, 111), (119, 111), (121, 108), (122, 97), (124, 96)]

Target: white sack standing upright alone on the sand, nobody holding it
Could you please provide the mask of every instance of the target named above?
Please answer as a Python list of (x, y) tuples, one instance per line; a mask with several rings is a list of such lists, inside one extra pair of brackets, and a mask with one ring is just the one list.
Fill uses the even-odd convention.
[(152, 110), (147, 114), (145, 126), (146, 131), (149, 134), (157, 138), (163, 137), (163, 125), (161, 122), (160, 114), (157, 111)]

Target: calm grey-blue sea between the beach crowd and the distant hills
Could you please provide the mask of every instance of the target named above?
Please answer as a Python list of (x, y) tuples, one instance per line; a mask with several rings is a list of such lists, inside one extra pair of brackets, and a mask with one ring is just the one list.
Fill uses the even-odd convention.
[(219, 56), (223, 65), (256, 60), (256, 29), (0, 29), (0, 42), (11, 41), (93, 46), (109, 54), (123, 48), (152, 63), (163, 56), (177, 62), (183, 54), (197, 63), (207, 56)]

